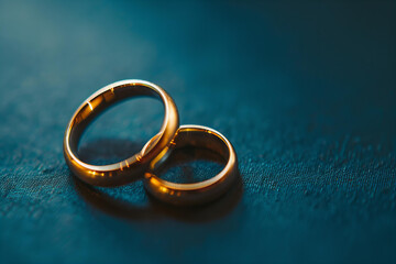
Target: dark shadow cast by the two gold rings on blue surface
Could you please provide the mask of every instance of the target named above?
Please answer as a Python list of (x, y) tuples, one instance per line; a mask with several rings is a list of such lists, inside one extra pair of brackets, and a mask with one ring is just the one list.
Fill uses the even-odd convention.
[[(99, 145), (100, 148), (98, 148)], [(79, 155), (82, 161), (87, 162), (97, 160), (98, 156), (100, 156), (101, 162), (105, 160), (118, 160), (117, 162), (119, 162), (128, 157), (130, 153), (139, 152), (141, 150), (141, 145), (142, 144), (138, 144), (130, 140), (99, 139), (81, 146)], [(194, 151), (188, 151), (187, 155), (183, 154), (183, 150), (184, 148), (175, 150), (166, 161), (166, 165), (163, 169), (161, 169), (161, 172), (198, 158), (220, 162), (218, 155), (212, 155), (208, 151), (200, 152), (199, 148), (195, 148)], [(194, 178), (194, 175), (191, 175), (193, 169), (183, 169), (183, 176), (186, 176), (187, 178)], [(186, 222), (212, 221), (229, 215), (238, 206), (243, 194), (242, 178), (238, 172), (235, 183), (233, 183), (226, 194), (215, 201), (194, 207), (176, 207), (162, 202), (145, 191), (148, 202), (141, 206), (116, 198), (102, 191), (98, 187), (94, 187), (81, 182), (72, 173), (70, 176), (77, 193), (85, 201), (105, 213), (129, 221), (155, 221), (162, 218), (174, 218)]]

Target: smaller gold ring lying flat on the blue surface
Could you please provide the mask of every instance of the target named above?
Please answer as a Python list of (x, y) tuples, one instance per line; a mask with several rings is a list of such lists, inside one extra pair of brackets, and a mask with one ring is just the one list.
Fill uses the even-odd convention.
[[(153, 138), (154, 141), (154, 138)], [(146, 146), (148, 147), (148, 142)], [(228, 162), (215, 177), (195, 184), (175, 184), (156, 176), (172, 148), (184, 146), (204, 147), (215, 151)], [(169, 150), (170, 148), (170, 150)], [(165, 148), (145, 174), (144, 187), (160, 200), (180, 206), (205, 204), (221, 196), (238, 175), (238, 160), (232, 144), (219, 132), (201, 125), (182, 125), (169, 147)]]

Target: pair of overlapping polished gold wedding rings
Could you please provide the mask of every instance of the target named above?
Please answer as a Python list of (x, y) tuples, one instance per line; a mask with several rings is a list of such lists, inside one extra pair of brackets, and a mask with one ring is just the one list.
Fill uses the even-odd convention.
[[(141, 152), (123, 162), (90, 165), (78, 158), (82, 132), (96, 117), (110, 106), (133, 97), (152, 97), (162, 101), (165, 117), (160, 132)], [(227, 161), (215, 177), (194, 184), (176, 184), (157, 176), (160, 168), (175, 148), (185, 146), (209, 148)], [(238, 175), (238, 160), (232, 144), (219, 132), (201, 125), (182, 125), (176, 105), (160, 86), (138, 79), (113, 82), (90, 96), (73, 114), (64, 138), (64, 155), (70, 170), (95, 186), (120, 186), (136, 179), (154, 197), (173, 205), (198, 205), (222, 195)]]

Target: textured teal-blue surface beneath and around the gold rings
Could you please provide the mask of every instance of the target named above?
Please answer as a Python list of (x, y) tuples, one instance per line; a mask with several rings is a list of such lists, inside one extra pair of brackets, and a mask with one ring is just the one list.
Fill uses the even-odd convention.
[[(0, 262), (396, 263), (395, 28), (394, 1), (1, 0)], [(226, 197), (174, 209), (70, 175), (69, 118), (127, 78), (233, 143)], [(90, 128), (84, 158), (157, 131), (161, 103), (135, 102)]]

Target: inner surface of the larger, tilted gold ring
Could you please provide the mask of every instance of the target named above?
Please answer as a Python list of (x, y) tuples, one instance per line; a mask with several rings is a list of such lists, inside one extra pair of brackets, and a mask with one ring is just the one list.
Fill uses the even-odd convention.
[[(78, 157), (78, 144), (86, 128), (101, 113), (110, 109), (111, 106), (117, 105), (125, 99), (132, 97), (150, 97), (160, 100), (163, 106), (164, 102), (156, 90), (143, 85), (124, 85), (105, 90), (98, 96), (92, 96), (86, 103), (84, 103), (76, 116), (74, 117), (70, 134), (69, 146), (73, 154)], [(165, 108), (165, 106), (164, 106)], [(164, 109), (166, 111), (166, 109)], [(166, 114), (166, 112), (165, 112)], [(136, 155), (136, 154), (134, 154)], [(131, 155), (133, 156), (133, 155)]]

